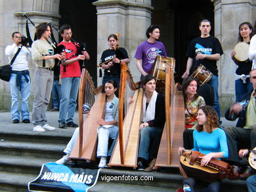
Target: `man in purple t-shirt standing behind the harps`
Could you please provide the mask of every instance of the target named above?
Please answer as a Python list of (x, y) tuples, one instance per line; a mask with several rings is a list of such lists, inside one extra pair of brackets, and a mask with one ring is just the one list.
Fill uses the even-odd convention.
[(160, 28), (156, 25), (146, 29), (147, 41), (140, 43), (136, 50), (136, 65), (142, 76), (152, 73), (152, 67), (157, 55), (167, 56), (163, 43), (158, 41), (160, 38)]

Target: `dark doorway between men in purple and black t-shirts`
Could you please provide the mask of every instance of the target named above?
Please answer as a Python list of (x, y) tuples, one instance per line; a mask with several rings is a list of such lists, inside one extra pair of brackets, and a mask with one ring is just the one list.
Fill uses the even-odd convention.
[(165, 44), (168, 56), (176, 60), (175, 82), (181, 82), (181, 75), (186, 69), (188, 59), (186, 50), (192, 39), (200, 35), (200, 20), (207, 18), (211, 21), (211, 35), (214, 35), (214, 6), (210, 0), (159, 2), (152, 0), (152, 23), (163, 28), (161, 41)]

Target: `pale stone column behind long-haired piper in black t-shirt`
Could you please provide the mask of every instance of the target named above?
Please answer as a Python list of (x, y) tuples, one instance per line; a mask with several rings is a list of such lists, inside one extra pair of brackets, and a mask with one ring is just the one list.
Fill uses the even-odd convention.
[[(124, 47), (130, 58), (129, 67), (136, 80), (140, 74), (134, 58), (137, 46), (146, 40), (146, 28), (151, 24), (151, 1), (96, 1), (97, 9), (97, 63), (103, 50), (108, 48), (108, 35), (119, 33), (120, 47)], [(98, 78), (98, 85), (102, 78)]]

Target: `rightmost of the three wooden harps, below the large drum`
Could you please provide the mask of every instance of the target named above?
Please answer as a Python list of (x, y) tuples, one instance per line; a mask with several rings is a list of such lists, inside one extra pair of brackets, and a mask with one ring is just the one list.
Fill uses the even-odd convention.
[(184, 99), (181, 86), (174, 82), (175, 59), (165, 65), (165, 126), (155, 168), (179, 167), (178, 149), (183, 145)]

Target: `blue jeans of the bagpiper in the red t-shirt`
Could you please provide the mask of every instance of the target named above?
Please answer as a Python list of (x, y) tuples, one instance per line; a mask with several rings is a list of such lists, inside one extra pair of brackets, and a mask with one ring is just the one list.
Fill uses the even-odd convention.
[(58, 122), (73, 121), (80, 77), (66, 77), (61, 79), (60, 115)]

